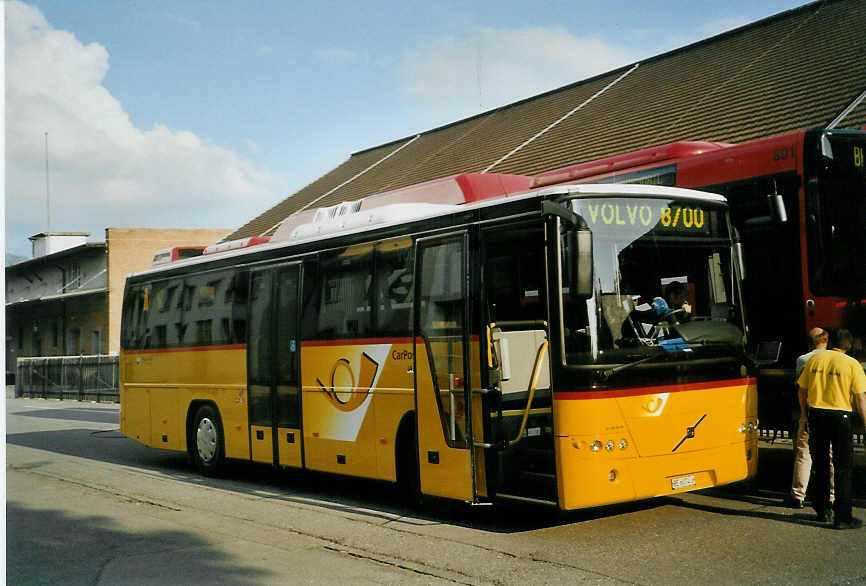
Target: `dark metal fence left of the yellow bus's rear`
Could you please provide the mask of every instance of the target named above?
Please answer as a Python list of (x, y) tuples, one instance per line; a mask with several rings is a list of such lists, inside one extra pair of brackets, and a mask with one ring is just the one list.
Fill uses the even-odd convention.
[(117, 402), (117, 367), (117, 356), (19, 358), (15, 396)]

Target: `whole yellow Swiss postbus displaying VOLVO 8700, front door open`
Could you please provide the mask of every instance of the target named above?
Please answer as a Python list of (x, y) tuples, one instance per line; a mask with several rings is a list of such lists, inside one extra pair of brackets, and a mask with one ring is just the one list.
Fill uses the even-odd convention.
[(122, 432), (205, 474), (230, 458), (561, 509), (756, 473), (724, 198), (457, 179), (131, 275)]

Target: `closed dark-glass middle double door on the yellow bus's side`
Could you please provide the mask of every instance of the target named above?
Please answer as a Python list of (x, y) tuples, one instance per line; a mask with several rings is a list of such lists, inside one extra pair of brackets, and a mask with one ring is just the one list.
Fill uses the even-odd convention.
[(254, 462), (303, 466), (299, 284), (300, 264), (252, 273), (247, 391)]

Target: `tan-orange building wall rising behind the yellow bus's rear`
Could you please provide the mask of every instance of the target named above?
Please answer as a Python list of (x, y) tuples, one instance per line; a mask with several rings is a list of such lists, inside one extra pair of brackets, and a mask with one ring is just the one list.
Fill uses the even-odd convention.
[(150, 268), (155, 252), (170, 246), (210, 245), (225, 236), (220, 230), (106, 228), (108, 252), (107, 351), (120, 351), (120, 318), (126, 276)]

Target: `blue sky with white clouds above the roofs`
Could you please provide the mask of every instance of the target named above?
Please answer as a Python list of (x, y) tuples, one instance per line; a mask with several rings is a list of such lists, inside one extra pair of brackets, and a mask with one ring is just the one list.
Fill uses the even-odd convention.
[(4, 2), (5, 248), (237, 228), (352, 153), (797, 0)]

